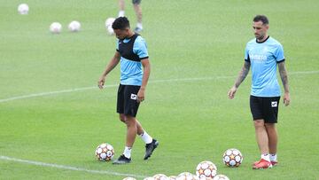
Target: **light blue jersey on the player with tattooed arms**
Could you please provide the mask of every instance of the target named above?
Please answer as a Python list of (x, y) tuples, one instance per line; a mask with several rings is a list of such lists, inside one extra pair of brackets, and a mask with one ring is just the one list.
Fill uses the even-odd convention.
[(252, 91), (256, 97), (280, 97), (280, 87), (276, 78), (276, 64), (284, 61), (281, 43), (269, 37), (264, 42), (251, 40), (245, 47), (245, 61), (251, 63)]

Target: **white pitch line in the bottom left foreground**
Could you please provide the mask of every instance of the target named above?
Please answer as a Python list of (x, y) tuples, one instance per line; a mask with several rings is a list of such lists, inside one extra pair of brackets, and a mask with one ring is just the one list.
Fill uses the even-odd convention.
[[(117, 173), (117, 172), (106, 171), (106, 170), (91, 170), (91, 169), (87, 169), (87, 168), (78, 168), (78, 167), (72, 167), (72, 166), (58, 165), (58, 164), (52, 164), (52, 163), (39, 162), (39, 161), (35, 161), (35, 160), (21, 160), (21, 159), (17, 159), (17, 158), (8, 157), (8, 156), (0, 156), (0, 160), (21, 162), (21, 163), (26, 163), (26, 164), (31, 164), (31, 165), (35, 165), (35, 166), (41, 166), (41, 167), (62, 168), (62, 169), (66, 169), (66, 170), (83, 171), (83, 172), (92, 173), (92, 174), (104, 174), (104, 175), (113, 175), (113, 176), (131, 176), (131, 177), (140, 177), (140, 178), (146, 177), (146, 176), (141, 176), (141, 175)], [(121, 165), (119, 165), (119, 166), (121, 166)]]

